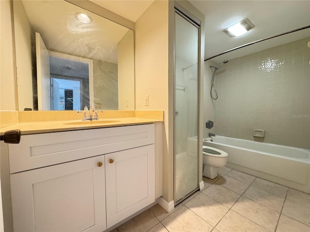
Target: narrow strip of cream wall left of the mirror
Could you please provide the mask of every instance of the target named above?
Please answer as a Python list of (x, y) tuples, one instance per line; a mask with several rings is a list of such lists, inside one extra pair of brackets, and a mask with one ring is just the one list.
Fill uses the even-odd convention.
[(16, 110), (13, 37), (9, 0), (0, 0), (0, 110)]

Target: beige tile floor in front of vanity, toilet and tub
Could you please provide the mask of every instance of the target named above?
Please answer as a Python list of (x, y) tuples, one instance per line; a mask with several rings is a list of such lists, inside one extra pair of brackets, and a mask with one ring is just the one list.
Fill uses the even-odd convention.
[(310, 232), (310, 194), (231, 168), (167, 213), (158, 204), (112, 232)]

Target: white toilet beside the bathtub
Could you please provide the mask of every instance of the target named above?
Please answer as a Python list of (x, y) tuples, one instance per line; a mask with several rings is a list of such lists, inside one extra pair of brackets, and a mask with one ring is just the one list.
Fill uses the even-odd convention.
[(216, 178), (217, 168), (226, 165), (228, 154), (225, 151), (211, 146), (202, 146), (202, 155), (202, 175), (210, 179)]

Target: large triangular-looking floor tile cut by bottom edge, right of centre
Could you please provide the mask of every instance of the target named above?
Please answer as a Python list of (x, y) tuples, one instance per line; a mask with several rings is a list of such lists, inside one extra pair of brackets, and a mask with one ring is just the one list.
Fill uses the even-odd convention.
[(263, 227), (230, 210), (217, 224), (220, 232), (268, 232)]

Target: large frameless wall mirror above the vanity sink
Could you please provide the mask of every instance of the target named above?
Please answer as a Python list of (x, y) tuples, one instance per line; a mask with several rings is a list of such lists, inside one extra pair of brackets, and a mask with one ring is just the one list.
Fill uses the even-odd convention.
[(19, 110), (134, 110), (132, 29), (64, 0), (13, 11)]

